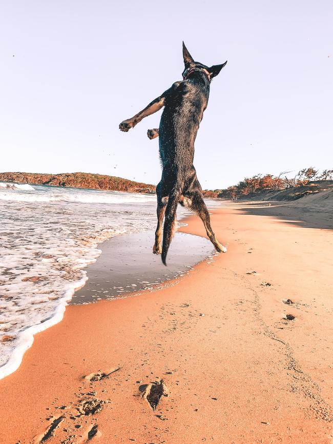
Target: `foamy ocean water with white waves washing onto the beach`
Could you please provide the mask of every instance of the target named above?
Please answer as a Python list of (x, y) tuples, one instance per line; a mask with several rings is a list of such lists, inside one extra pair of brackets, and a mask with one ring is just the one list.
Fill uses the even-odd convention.
[[(177, 217), (188, 214), (179, 208)], [(59, 322), (98, 244), (156, 228), (156, 196), (0, 182), (0, 378)]]

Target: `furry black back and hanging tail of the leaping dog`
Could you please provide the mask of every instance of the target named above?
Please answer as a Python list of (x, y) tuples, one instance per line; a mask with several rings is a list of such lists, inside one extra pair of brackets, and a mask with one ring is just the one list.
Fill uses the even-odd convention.
[(159, 151), (163, 165), (162, 194), (168, 196), (163, 230), (162, 261), (171, 243), (178, 203), (192, 207), (193, 196), (201, 187), (193, 165), (194, 142), (209, 98), (209, 81), (197, 71), (185, 79), (165, 99), (159, 126)]

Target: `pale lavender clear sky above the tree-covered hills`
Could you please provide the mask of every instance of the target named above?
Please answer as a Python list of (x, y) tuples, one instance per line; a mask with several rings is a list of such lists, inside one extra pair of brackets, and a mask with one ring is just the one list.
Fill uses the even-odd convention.
[(333, 168), (332, 18), (331, 0), (1, 0), (0, 171), (157, 184), (161, 111), (118, 125), (181, 80), (182, 41), (228, 60), (195, 144), (203, 189)]

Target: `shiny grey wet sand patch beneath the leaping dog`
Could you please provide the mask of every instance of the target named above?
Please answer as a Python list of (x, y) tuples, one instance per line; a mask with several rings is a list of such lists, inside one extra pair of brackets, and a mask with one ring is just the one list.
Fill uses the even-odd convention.
[[(115, 236), (100, 244), (102, 258), (89, 265), (87, 284), (74, 294), (70, 304), (89, 304), (153, 290), (189, 273), (194, 265), (215, 254), (208, 239), (176, 233), (168, 267), (164, 267), (160, 256), (152, 254), (153, 243), (154, 233), (144, 231)], [(187, 251), (189, 245), (191, 254)]]

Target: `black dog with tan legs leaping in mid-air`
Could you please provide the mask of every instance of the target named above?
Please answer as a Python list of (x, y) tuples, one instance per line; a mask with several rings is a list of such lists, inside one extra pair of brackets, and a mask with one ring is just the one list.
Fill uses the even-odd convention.
[[(226, 62), (210, 68), (195, 62), (184, 43), (183, 57), (185, 69), (182, 82), (174, 83), (144, 110), (128, 120), (123, 120), (119, 125), (121, 131), (128, 131), (144, 117), (165, 107), (159, 129), (148, 130), (148, 137), (151, 139), (159, 135), (159, 153), (163, 166), (162, 178), (156, 187), (158, 223), (153, 252), (162, 253), (164, 265), (175, 231), (178, 203), (198, 214), (215, 249), (218, 252), (226, 252), (226, 248), (219, 243), (212, 230), (210, 215), (203, 201), (202, 189), (193, 166), (194, 141), (203, 111), (207, 107), (210, 83)], [(161, 246), (164, 213), (163, 246)]]

